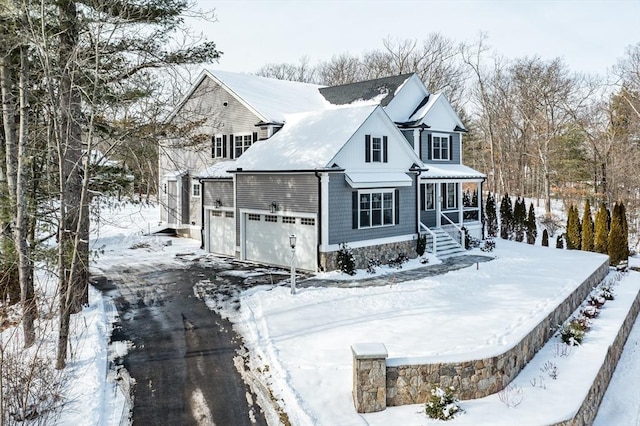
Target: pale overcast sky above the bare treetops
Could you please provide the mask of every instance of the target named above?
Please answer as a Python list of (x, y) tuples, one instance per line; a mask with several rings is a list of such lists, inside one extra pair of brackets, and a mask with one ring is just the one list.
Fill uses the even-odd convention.
[(508, 58), (562, 57), (573, 70), (605, 75), (640, 42), (640, 0), (198, 0), (218, 22), (201, 27), (224, 52), (212, 68), (255, 72), (267, 63), (312, 65), (335, 54), (382, 48), (386, 37), (439, 32), (472, 42), (480, 32)]

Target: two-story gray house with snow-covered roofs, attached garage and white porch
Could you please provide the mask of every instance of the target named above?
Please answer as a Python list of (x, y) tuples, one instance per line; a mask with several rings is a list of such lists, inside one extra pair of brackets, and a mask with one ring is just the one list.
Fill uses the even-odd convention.
[(427, 235), (450, 253), (481, 236), (484, 176), (462, 164), (463, 124), (415, 74), (321, 87), (204, 72), (170, 120), (206, 143), (161, 146), (161, 220), (208, 251), (335, 268), (341, 243), (360, 267), (415, 254)]

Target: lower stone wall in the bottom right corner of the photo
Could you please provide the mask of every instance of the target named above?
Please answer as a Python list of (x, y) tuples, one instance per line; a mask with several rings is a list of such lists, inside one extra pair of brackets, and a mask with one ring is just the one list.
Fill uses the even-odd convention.
[(557, 426), (583, 426), (593, 424), (593, 421), (598, 414), (602, 398), (609, 387), (609, 382), (611, 381), (613, 372), (615, 371), (618, 360), (620, 359), (620, 355), (622, 355), (622, 351), (624, 350), (624, 344), (629, 337), (629, 333), (631, 333), (631, 329), (638, 318), (639, 312), (640, 292), (636, 294), (636, 298), (631, 305), (624, 322), (622, 323), (622, 327), (620, 327), (616, 338), (611, 346), (609, 346), (604, 362), (593, 381), (593, 385), (591, 385), (591, 388), (589, 389), (589, 393), (587, 393), (586, 398), (578, 409), (578, 412), (572, 419), (557, 423)]

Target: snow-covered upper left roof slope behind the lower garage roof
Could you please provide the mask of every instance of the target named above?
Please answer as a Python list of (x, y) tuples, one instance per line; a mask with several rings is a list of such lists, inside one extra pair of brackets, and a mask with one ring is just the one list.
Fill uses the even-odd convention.
[(316, 111), (329, 105), (318, 91), (323, 86), (316, 84), (227, 71), (209, 73), (267, 122), (282, 123), (287, 114)]

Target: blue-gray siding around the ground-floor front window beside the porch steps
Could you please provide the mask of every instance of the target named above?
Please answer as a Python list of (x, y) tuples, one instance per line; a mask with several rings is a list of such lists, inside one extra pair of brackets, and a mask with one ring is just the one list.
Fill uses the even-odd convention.
[(400, 223), (379, 228), (353, 229), (352, 194), (344, 174), (329, 178), (329, 244), (364, 241), (407, 235), (416, 232), (416, 190), (414, 185), (397, 188), (400, 191)]

